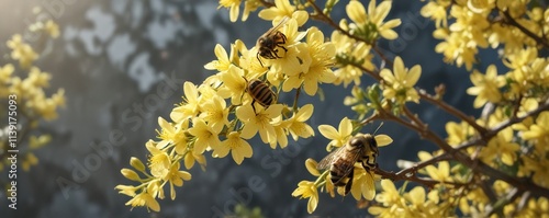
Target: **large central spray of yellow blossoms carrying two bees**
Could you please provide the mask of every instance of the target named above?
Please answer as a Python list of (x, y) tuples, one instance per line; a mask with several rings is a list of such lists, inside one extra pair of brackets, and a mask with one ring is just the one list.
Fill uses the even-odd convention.
[[(224, 3), (229, 2), (222, 5)], [(271, 10), (262, 14), (277, 20), (276, 13)], [(228, 54), (223, 46), (215, 46), (217, 59), (204, 68), (216, 73), (202, 84), (183, 84), (183, 101), (172, 110), (170, 121), (158, 118), (158, 140), (146, 145), (148, 164), (145, 167), (134, 158), (131, 164), (138, 172), (122, 170), (125, 177), (139, 183), (116, 186), (121, 194), (132, 197), (126, 205), (159, 210), (156, 198), (164, 198), (164, 185), (170, 184), (171, 198), (175, 198), (173, 186), (181, 186), (182, 181), (191, 179), (186, 170), (194, 163), (205, 167), (206, 152), (213, 158), (231, 153), (240, 164), (253, 157), (254, 149), (248, 140), (256, 136), (272, 149), (287, 147), (290, 135), (294, 140), (314, 136), (313, 128), (306, 124), (314, 107), (312, 104), (298, 105), (298, 99), (302, 90), (315, 95), (320, 83), (335, 80), (330, 69), (335, 46), (325, 42), (324, 34), (316, 27), (298, 31), (309, 19), (307, 13), (294, 11), (292, 14), (285, 19), (280, 16), (273, 24), (277, 30), (272, 34), (284, 36), (271, 48), (274, 59), (258, 54), (261, 45), (248, 49), (242, 41), (236, 41)], [(250, 81), (260, 81), (264, 87), (251, 88)], [(257, 96), (259, 93), (287, 94), (294, 99), (282, 102), (278, 100), (281, 97), (274, 97), (272, 104), (266, 105), (261, 102), (265, 96)]]

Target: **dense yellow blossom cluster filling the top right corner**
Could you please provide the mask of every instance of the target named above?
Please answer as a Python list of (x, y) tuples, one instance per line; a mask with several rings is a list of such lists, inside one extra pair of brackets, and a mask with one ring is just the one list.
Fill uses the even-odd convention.
[(436, 21), (435, 48), (445, 61), (468, 70), (478, 62), (480, 48), (501, 48), (508, 58), (525, 47), (548, 46), (549, 9), (529, 0), (432, 0), (421, 13)]

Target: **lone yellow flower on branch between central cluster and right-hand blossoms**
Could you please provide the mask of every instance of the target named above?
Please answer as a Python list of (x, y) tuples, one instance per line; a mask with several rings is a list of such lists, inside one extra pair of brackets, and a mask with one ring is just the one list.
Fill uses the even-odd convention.
[(408, 101), (419, 103), (419, 95), (414, 85), (419, 80), (421, 74), (422, 66), (416, 65), (408, 71), (407, 68), (404, 68), (401, 57), (394, 58), (393, 71), (385, 68), (380, 72), (385, 82), (383, 84), (383, 96), (400, 104)]

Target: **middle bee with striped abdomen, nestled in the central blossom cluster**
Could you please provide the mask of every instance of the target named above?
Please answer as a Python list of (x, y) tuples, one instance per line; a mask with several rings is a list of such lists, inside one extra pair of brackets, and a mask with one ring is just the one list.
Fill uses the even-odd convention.
[(277, 94), (267, 85), (264, 81), (258, 80), (258, 79), (253, 79), (251, 81), (248, 82), (246, 78), (244, 78), (248, 85), (246, 87), (246, 92), (254, 99), (251, 102), (251, 107), (254, 108), (254, 112), (256, 111), (256, 107), (254, 104), (257, 102), (264, 107), (268, 107), (271, 104), (274, 104), (277, 102)]

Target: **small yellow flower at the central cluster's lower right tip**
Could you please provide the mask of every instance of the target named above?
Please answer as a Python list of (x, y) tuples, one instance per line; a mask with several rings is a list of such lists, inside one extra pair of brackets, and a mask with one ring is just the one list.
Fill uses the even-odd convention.
[(293, 140), (298, 141), (299, 137), (309, 138), (310, 136), (314, 136), (313, 128), (305, 123), (313, 115), (313, 108), (312, 104), (306, 104), (298, 113), (294, 113), (292, 117), (284, 121), (284, 126), (292, 134)]

